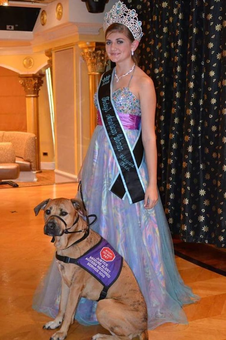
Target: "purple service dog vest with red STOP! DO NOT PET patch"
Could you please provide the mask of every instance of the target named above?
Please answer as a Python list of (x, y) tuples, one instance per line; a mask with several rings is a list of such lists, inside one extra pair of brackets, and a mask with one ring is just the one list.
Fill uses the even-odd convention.
[(64, 263), (74, 263), (93, 275), (104, 287), (97, 301), (105, 299), (110, 286), (119, 277), (123, 258), (101, 237), (100, 241), (78, 258), (58, 255), (56, 258)]

